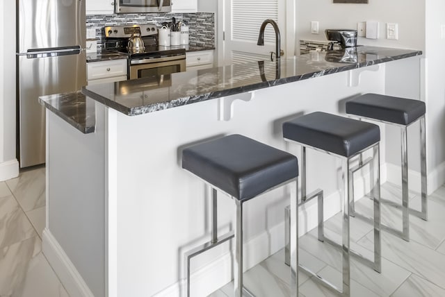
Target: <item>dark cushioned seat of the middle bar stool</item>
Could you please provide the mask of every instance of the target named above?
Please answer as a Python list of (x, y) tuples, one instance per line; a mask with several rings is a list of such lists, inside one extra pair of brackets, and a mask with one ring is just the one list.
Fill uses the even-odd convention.
[(325, 112), (313, 112), (283, 124), (283, 137), (350, 157), (380, 141), (378, 126)]

